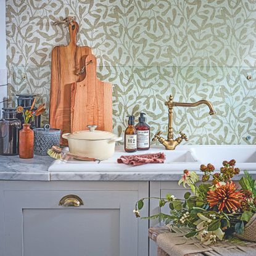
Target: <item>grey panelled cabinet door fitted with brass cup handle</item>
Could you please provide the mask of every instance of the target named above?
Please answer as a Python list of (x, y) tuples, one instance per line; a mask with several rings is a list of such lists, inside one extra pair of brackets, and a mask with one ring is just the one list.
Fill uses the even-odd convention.
[[(75, 194), (80, 207), (59, 200)], [(6, 191), (6, 255), (138, 255), (136, 191)]]

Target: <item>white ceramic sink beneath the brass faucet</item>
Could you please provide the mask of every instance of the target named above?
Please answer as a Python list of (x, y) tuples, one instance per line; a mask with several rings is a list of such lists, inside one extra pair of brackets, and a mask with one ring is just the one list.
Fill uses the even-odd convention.
[(164, 152), (165, 163), (147, 164), (132, 167), (117, 163), (121, 155), (129, 155), (123, 151), (123, 147), (117, 147), (114, 157), (101, 163), (84, 162), (79, 160), (56, 160), (49, 171), (133, 171), (156, 172), (159, 171), (183, 171), (184, 169), (199, 171), (202, 163), (212, 163), (216, 169), (222, 166), (223, 160), (236, 160), (236, 167), (241, 170), (256, 171), (256, 145), (255, 146), (186, 146), (179, 145), (175, 151), (167, 151), (162, 146), (152, 147), (149, 151), (138, 151), (134, 154), (147, 154)]

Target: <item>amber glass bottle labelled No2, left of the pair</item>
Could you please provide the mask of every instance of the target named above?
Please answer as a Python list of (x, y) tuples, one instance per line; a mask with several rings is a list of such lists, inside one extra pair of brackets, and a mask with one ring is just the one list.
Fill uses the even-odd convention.
[(137, 131), (134, 127), (134, 116), (130, 115), (128, 119), (128, 127), (125, 130), (125, 151), (137, 151)]

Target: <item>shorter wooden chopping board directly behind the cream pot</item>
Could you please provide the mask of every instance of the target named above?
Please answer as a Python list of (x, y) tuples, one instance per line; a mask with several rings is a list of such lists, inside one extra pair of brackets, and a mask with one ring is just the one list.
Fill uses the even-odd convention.
[(85, 63), (85, 79), (71, 88), (71, 131), (97, 125), (97, 130), (112, 132), (112, 84), (97, 79), (93, 54), (86, 56)]

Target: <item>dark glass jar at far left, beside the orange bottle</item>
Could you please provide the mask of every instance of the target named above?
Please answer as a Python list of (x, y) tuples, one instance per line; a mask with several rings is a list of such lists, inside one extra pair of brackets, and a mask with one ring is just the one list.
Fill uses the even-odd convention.
[(21, 122), (14, 108), (3, 108), (0, 120), (0, 155), (19, 154), (19, 130)]

